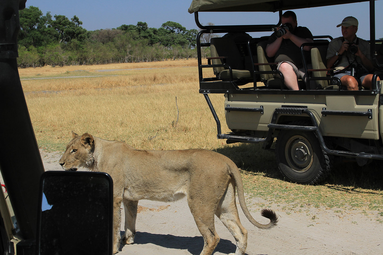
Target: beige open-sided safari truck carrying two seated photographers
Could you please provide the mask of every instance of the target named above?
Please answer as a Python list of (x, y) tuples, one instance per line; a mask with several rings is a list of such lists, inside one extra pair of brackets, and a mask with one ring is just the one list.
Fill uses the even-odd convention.
[[(370, 45), (376, 72), (372, 90), (347, 91), (339, 79), (326, 75), (326, 51), (330, 36), (315, 36), (314, 43), (301, 46), (308, 81), (303, 90), (287, 90), (283, 75), (275, 78), (275, 66), (266, 57), (268, 37), (249, 36), (250, 32), (272, 31), (281, 24), (282, 11), (356, 2), (370, 3)], [(383, 95), (382, 63), (376, 60), (374, 0), (193, 0), (188, 10), (202, 30), (197, 36), (199, 92), (205, 96), (217, 124), (218, 139), (235, 142), (263, 143), (274, 150), (278, 167), (284, 177), (296, 183), (318, 183), (331, 170), (334, 157), (345, 157), (365, 165), (383, 159)], [(203, 26), (198, 13), (215, 11), (278, 12), (275, 25), (214, 25)], [(326, 16), (326, 15), (323, 15)], [(205, 33), (225, 34), (201, 43)], [(256, 33), (252, 33), (256, 34)], [(308, 69), (304, 46), (313, 46)], [(202, 64), (201, 47), (210, 47), (208, 64)], [(214, 77), (206, 77), (213, 70)], [(204, 75), (205, 74), (205, 75)], [(211, 72), (210, 72), (211, 74)], [(331, 81), (335, 82), (330, 83)], [(302, 82), (302, 81), (300, 81)], [(263, 85), (257, 85), (260, 83)], [(303, 83), (304, 84), (304, 83)], [(226, 124), (231, 130), (221, 132), (221, 122), (209, 94), (225, 96)], [(276, 142), (274, 144), (274, 141)], [(275, 148), (274, 148), (275, 146)]]

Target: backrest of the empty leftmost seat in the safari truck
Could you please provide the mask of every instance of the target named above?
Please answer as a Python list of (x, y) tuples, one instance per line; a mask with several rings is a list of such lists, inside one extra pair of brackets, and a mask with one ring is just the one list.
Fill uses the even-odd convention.
[[(224, 64), (226, 62), (231, 69), (244, 69), (241, 54), (232, 38), (211, 38), (210, 54), (211, 57), (226, 57), (225, 60), (212, 59), (211, 64), (213, 65)], [(213, 67), (215, 75), (218, 75), (223, 70), (225, 70), (224, 67)]]

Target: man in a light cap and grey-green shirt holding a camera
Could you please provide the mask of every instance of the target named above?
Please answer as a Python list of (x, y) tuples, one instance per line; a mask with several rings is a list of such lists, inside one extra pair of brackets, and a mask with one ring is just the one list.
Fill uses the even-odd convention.
[[(358, 20), (348, 16), (337, 25), (342, 26), (341, 37), (333, 39), (327, 49), (327, 68), (335, 68), (334, 76), (347, 90), (358, 90), (358, 85), (371, 89), (372, 70), (370, 43), (358, 38)], [(379, 78), (378, 78), (379, 80)]]

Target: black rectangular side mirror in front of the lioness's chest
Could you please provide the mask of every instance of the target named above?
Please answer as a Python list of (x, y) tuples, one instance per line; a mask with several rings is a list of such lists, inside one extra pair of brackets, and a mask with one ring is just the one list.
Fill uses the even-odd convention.
[(110, 175), (44, 172), (39, 199), (36, 254), (113, 253), (113, 181)]

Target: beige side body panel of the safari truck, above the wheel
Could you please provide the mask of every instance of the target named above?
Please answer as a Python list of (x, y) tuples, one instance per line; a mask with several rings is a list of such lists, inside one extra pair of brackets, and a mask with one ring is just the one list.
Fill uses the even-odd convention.
[[(383, 106), (379, 105), (380, 94), (376, 95), (265, 95), (225, 94), (225, 106), (238, 108), (260, 108), (264, 112), (226, 111), (226, 123), (231, 130), (257, 130), (267, 132), (268, 124), (276, 108), (300, 106), (311, 111), (319, 125), (322, 136), (381, 139)], [(371, 113), (371, 116), (327, 115), (322, 111), (355, 111)], [(293, 119), (308, 119), (307, 114), (277, 114), (276, 123)]]

